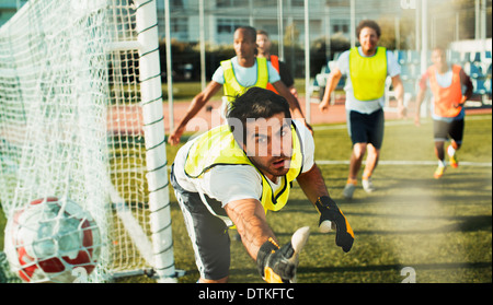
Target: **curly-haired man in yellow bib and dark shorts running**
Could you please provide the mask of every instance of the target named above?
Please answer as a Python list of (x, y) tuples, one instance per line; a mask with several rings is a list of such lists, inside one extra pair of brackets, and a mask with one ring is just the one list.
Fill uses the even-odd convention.
[(399, 114), (405, 115), (404, 87), (400, 78), (401, 68), (392, 52), (378, 46), (380, 26), (364, 20), (356, 28), (360, 47), (352, 48), (341, 55), (336, 68), (329, 75), (325, 93), (319, 108), (326, 113), (331, 94), (341, 77), (347, 75), (346, 92), (347, 130), (353, 141), (349, 162), (349, 175), (343, 196), (353, 198), (357, 185), (357, 175), (363, 157), (367, 153), (362, 185), (367, 192), (375, 190), (371, 175), (380, 157), (383, 141), (383, 103), (387, 77), (392, 80), (398, 101)]

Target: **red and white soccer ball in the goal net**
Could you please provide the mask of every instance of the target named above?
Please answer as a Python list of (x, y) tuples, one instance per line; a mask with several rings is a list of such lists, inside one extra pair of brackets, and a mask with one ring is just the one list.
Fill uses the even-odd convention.
[(9, 219), (4, 247), (23, 281), (71, 283), (94, 270), (101, 236), (88, 211), (70, 199), (48, 197)]

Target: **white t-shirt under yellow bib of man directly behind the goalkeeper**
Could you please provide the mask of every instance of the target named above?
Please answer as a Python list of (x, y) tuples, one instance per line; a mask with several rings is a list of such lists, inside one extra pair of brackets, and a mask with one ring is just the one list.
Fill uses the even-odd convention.
[[(241, 67), (238, 63), (238, 58), (233, 57), (231, 58), (231, 63), (234, 70), (234, 77), (237, 78), (237, 81), (244, 87), (253, 86), (256, 83), (257, 79), (257, 68), (256, 68), (256, 60), (255, 63), (250, 68)], [(272, 66), (271, 61), (267, 61), (267, 70), (268, 70), (268, 82), (275, 83), (280, 81), (279, 73), (276, 69)], [(219, 68), (214, 72), (213, 81), (225, 84), (225, 72), (222, 70), (222, 66), (219, 66)]]

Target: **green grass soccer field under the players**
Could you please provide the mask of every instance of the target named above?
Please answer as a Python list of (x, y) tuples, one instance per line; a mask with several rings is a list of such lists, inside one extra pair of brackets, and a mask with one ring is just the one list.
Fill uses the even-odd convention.
[[(381, 162), (374, 175), (378, 188), (362, 188), (353, 200), (343, 199), (351, 142), (344, 125), (314, 126), (316, 161), (331, 196), (354, 232), (353, 249), (344, 254), (334, 234), (317, 230), (318, 213), (295, 184), (291, 197), (267, 220), (282, 243), (300, 226), (311, 227), (301, 253), (300, 283), (399, 283), (411, 267), (419, 283), (475, 283), (492, 280), (492, 116), (468, 116), (459, 168), (433, 178), (432, 121), (417, 128), (411, 120), (389, 120)], [(168, 148), (172, 163), (177, 146)], [(401, 163), (402, 162), (402, 163)], [(185, 270), (182, 283), (198, 279), (183, 216), (170, 187), (175, 266)], [(5, 224), (0, 209), (0, 232)], [(234, 232), (230, 232), (231, 236)], [(0, 247), (3, 236), (0, 234)], [(255, 262), (241, 242), (231, 242), (233, 283), (262, 283)], [(153, 282), (138, 277), (123, 282)]]

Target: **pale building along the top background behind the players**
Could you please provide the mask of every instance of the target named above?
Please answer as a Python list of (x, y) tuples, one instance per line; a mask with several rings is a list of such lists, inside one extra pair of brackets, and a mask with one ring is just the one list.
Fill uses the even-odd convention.
[[(119, 0), (131, 1), (131, 0)], [(183, 43), (198, 43), (200, 0), (169, 0), (171, 36)], [(24, 5), (27, 0), (0, 0), (0, 26)], [(251, 25), (267, 31), (274, 42), (302, 44), (305, 42), (305, 0), (203, 0), (204, 35), (209, 45), (231, 43), (234, 30)], [(310, 0), (310, 42), (340, 37), (351, 40), (351, 4), (354, 5), (354, 25), (363, 19), (390, 21), (395, 33), (397, 48), (415, 47), (419, 44), (414, 25), (420, 22), (414, 14), (421, 0)], [(164, 0), (157, 0), (158, 22), (164, 36)], [(457, 42), (491, 38), (492, 0), (434, 0), (428, 2), (431, 46), (440, 44), (440, 37)], [(282, 8), (282, 10), (279, 10)], [(416, 11), (417, 12), (417, 11)], [(414, 17), (415, 16), (415, 17)], [(278, 22), (279, 19), (283, 22)], [(447, 26), (444, 26), (447, 24)], [(282, 25), (282, 27), (280, 27)], [(354, 26), (353, 25), (353, 26)], [(386, 34), (386, 36), (388, 36)], [(401, 44), (401, 42), (403, 42)], [(406, 44), (408, 42), (408, 44)]]

